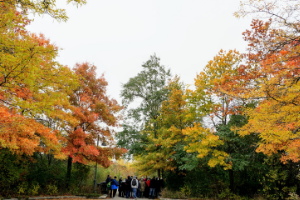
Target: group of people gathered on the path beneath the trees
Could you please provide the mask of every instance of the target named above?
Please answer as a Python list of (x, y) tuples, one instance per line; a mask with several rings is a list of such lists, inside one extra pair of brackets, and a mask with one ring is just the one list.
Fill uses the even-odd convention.
[(117, 177), (114, 179), (110, 175), (106, 179), (107, 193), (111, 198), (114, 198), (117, 190), (119, 190), (119, 197), (126, 197), (127, 199), (149, 198), (154, 199), (160, 195), (161, 189), (164, 187), (164, 180), (155, 178), (140, 178), (136, 176), (128, 176), (127, 179)]

